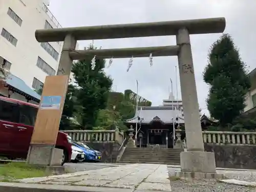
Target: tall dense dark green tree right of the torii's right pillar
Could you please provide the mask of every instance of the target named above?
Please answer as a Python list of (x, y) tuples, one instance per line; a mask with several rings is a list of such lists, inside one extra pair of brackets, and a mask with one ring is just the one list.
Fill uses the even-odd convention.
[(206, 102), (211, 117), (221, 126), (232, 123), (245, 107), (250, 81), (230, 35), (222, 35), (212, 45), (203, 78), (210, 86)]

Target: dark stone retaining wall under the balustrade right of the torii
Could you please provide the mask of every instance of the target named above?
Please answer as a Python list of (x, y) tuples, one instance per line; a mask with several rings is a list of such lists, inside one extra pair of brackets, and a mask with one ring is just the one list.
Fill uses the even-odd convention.
[(215, 152), (217, 167), (256, 169), (255, 145), (216, 145), (204, 143), (204, 147), (207, 152)]

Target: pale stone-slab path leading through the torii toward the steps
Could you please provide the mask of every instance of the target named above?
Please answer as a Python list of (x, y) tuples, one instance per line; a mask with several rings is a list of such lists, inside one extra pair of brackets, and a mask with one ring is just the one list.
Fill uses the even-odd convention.
[(171, 191), (167, 166), (160, 164), (130, 164), (100, 170), (88, 170), (73, 174), (29, 178), (18, 181), (36, 184)]

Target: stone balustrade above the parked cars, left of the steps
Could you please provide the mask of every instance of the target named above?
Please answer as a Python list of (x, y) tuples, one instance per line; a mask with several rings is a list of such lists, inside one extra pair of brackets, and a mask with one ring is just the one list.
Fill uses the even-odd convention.
[(73, 141), (77, 142), (118, 142), (122, 144), (124, 139), (123, 132), (116, 130), (65, 130)]

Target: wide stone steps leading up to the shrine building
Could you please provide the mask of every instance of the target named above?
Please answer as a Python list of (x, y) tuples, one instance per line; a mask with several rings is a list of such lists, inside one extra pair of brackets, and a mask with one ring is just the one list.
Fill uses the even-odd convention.
[(125, 148), (120, 162), (180, 164), (181, 152), (173, 148)]

